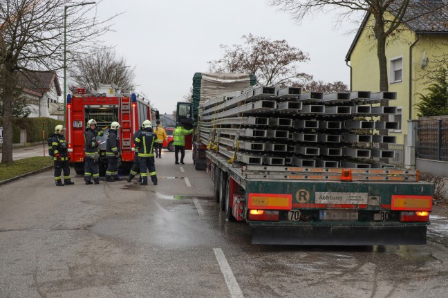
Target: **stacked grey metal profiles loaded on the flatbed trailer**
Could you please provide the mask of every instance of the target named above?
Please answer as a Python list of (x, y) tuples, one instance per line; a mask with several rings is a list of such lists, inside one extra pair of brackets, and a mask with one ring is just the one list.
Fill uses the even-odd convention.
[[(380, 129), (398, 122), (394, 92), (302, 93), (301, 88), (254, 86), (206, 100), (200, 105), (198, 140), (210, 150), (247, 165), (382, 168), (395, 143)], [(375, 105), (375, 106), (374, 106)]]

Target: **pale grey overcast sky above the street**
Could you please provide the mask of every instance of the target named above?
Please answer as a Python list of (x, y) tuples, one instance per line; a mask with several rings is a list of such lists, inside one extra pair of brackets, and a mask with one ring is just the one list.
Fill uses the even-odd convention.
[[(242, 44), (241, 36), (286, 39), (310, 56), (300, 71), (325, 82), (350, 82), (345, 63), (353, 24), (334, 29), (330, 15), (316, 15), (296, 24), (265, 0), (104, 0), (97, 5), (113, 20), (104, 41), (135, 66), (136, 90), (146, 94), (160, 113), (171, 113), (187, 95), (196, 72), (219, 59), (220, 44)], [(348, 32), (352, 32), (349, 34)]]

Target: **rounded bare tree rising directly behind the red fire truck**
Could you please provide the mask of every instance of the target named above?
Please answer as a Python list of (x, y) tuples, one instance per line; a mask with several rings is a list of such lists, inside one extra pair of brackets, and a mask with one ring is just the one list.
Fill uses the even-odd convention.
[(70, 74), (75, 84), (80, 86), (97, 89), (101, 83), (113, 83), (122, 91), (131, 91), (136, 77), (134, 68), (127, 65), (123, 57), (117, 57), (113, 48), (102, 48), (93, 55), (86, 55), (75, 63)]

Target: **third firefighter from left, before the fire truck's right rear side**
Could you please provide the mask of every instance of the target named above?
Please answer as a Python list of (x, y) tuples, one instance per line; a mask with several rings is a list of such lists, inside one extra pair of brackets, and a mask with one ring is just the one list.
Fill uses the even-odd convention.
[(122, 162), (118, 129), (120, 129), (120, 124), (118, 124), (118, 122), (112, 122), (111, 129), (109, 129), (109, 136), (107, 136), (106, 156), (108, 164), (106, 169), (106, 181), (109, 182), (123, 180), (118, 176), (118, 167), (120, 167)]

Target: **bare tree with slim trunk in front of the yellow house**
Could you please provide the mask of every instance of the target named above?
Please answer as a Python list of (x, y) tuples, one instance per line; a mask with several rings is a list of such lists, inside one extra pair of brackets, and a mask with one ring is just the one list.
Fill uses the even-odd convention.
[[(420, 1), (416, 0), (270, 0), (270, 5), (290, 12), (297, 21), (302, 21), (304, 17), (312, 14), (312, 12), (328, 12), (329, 10), (339, 11), (339, 21), (348, 19), (356, 12), (371, 14), (374, 22), (369, 29), (373, 32), (373, 36), (376, 39), (378, 66), (380, 69), (380, 91), (389, 91), (386, 39), (394, 35), (403, 22), (411, 21), (427, 14), (436, 14), (438, 10), (447, 6), (446, 3), (441, 2), (436, 6), (431, 6), (432, 8), (424, 9)], [(408, 16), (407, 10), (413, 10), (413, 12), (417, 13)], [(388, 12), (391, 12), (391, 17), (388, 16)], [(365, 26), (368, 26), (368, 24)]]

